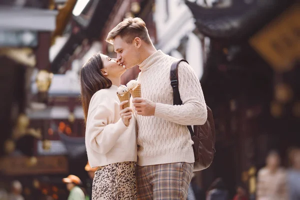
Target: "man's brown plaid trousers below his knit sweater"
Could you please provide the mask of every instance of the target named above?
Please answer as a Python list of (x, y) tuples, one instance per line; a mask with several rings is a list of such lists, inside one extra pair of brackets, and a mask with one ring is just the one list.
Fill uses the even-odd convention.
[(137, 199), (187, 198), (193, 163), (175, 162), (136, 167)]

